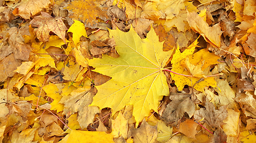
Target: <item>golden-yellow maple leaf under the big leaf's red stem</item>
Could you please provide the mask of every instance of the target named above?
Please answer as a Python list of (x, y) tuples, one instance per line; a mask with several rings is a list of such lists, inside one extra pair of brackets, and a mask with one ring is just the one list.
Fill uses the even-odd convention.
[[(186, 57), (189, 56), (189, 58), (192, 59), (191, 61), (195, 60), (194, 62), (192, 62), (192, 64), (194, 64), (194, 65), (201, 63), (203, 60), (205, 60), (204, 62), (206, 62), (206, 60), (207, 60), (207, 64), (205, 66), (201, 65), (201, 68), (204, 67), (204, 69), (206, 68), (206, 66), (208, 67), (210, 64), (218, 63), (218, 61), (217, 61), (218, 58), (214, 57), (213, 59), (210, 59), (210, 58), (207, 58), (207, 56), (204, 56), (204, 54), (207, 54), (207, 55), (213, 54), (213, 53), (210, 53), (209, 51), (203, 50), (200, 52), (200, 54), (196, 54), (196, 53), (193, 54), (195, 47), (197, 46), (197, 43), (198, 43), (197, 40), (195, 40), (182, 53), (180, 53), (179, 46), (178, 46), (175, 54), (173, 55), (173, 59), (171, 60), (171, 64), (173, 64), (173, 68), (171, 69), (171, 71), (183, 74), (183, 75), (180, 75), (180, 74), (171, 73), (171, 77), (173, 80), (175, 80), (175, 85), (177, 86), (179, 91), (181, 91), (185, 85), (193, 86), (198, 80), (200, 80), (199, 77), (201, 77), (201, 76), (204, 77), (204, 75), (201, 75), (201, 76), (197, 75), (197, 77), (184, 76), (184, 75), (191, 75), (191, 74), (193, 76), (193, 73), (189, 72), (189, 69), (191, 69), (191, 67), (188, 68), (188, 66), (189, 66), (188, 63), (186, 66), (183, 66), (183, 64), (182, 64), (183, 60), (186, 60)], [(204, 54), (202, 54), (202, 53), (204, 53)], [(189, 62), (190, 62), (190, 60), (189, 60)], [(197, 63), (195, 63), (195, 62), (197, 62)], [(187, 68), (185, 68), (185, 67), (187, 67)], [(194, 70), (195, 69), (191, 69), (191, 71), (193, 71), (193, 72), (194, 72)], [(199, 74), (200, 73), (201, 73), (201, 71), (199, 72)], [(198, 71), (195, 74), (198, 74)], [(216, 87), (216, 82), (215, 82), (214, 77), (204, 78), (204, 80), (202, 82), (195, 84), (194, 88), (197, 89), (198, 91), (203, 92), (203, 89), (205, 86)]]

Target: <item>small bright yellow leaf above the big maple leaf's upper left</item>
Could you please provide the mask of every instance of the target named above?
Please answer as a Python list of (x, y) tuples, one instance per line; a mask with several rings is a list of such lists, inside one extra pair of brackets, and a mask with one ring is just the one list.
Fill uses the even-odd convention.
[(76, 46), (77, 46), (77, 43), (79, 43), (81, 36), (85, 36), (88, 38), (85, 30), (85, 24), (77, 20), (74, 20), (74, 23), (70, 26), (70, 29), (68, 29), (68, 32), (73, 33), (72, 39)]

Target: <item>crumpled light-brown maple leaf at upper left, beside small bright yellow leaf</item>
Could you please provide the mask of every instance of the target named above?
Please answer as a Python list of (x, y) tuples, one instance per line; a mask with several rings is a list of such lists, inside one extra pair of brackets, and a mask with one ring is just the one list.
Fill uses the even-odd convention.
[(41, 15), (35, 17), (29, 24), (32, 24), (32, 27), (37, 27), (34, 32), (41, 42), (49, 41), (50, 32), (55, 33), (65, 42), (65, 34), (68, 29), (61, 17), (52, 17), (48, 13), (41, 12)]

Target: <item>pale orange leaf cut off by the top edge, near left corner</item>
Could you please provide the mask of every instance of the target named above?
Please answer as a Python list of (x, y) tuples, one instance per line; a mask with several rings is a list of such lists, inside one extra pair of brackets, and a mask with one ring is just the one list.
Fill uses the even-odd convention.
[(50, 0), (29, 0), (23, 1), (19, 7), (13, 11), (14, 15), (20, 15), (20, 17), (29, 19), (31, 16), (39, 13), (43, 8), (49, 8), (51, 4)]

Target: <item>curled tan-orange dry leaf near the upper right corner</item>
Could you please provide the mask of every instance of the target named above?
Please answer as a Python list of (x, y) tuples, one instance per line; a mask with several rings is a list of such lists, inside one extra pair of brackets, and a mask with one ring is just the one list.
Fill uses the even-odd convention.
[(221, 27), (218, 24), (215, 24), (212, 27), (203, 20), (197, 13), (189, 13), (188, 11), (188, 23), (191, 26), (191, 29), (195, 32), (200, 33), (203, 38), (209, 42), (212, 46), (220, 47), (221, 46)]

